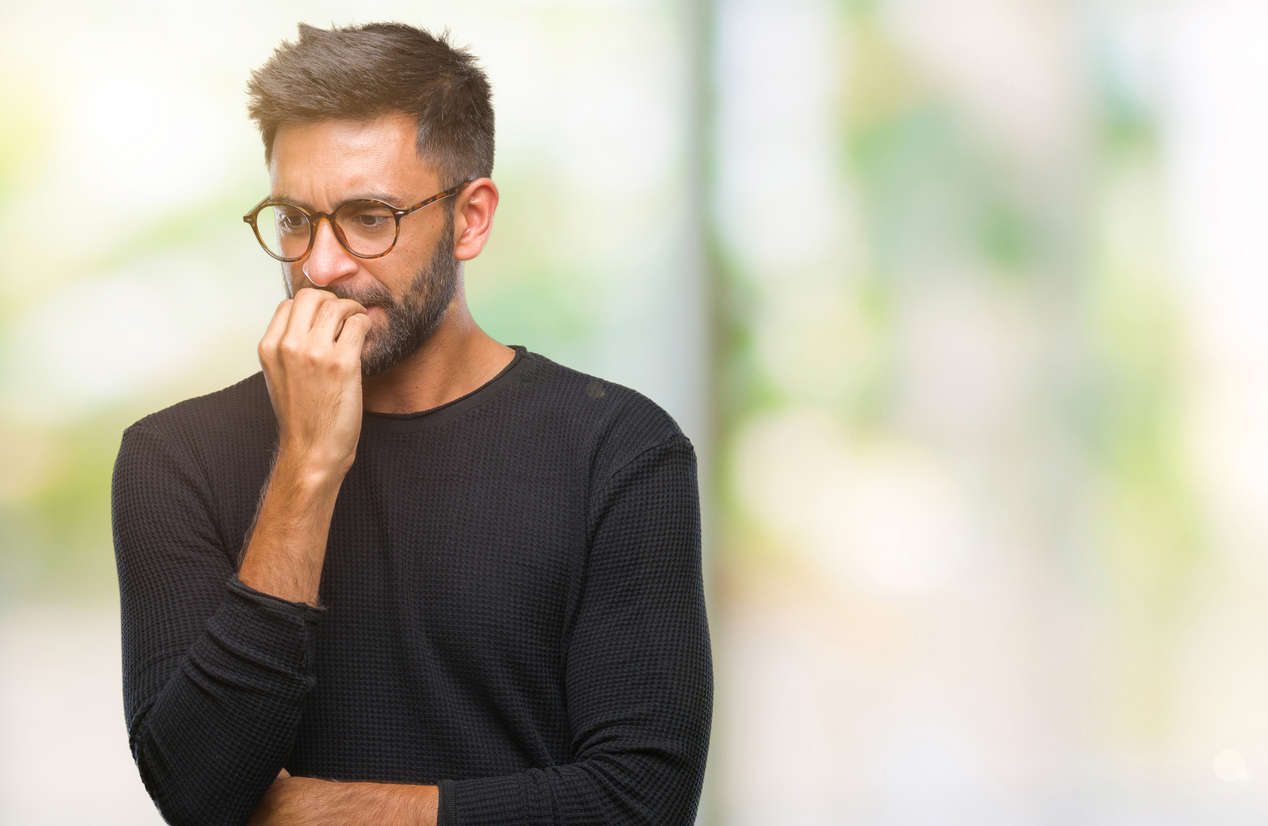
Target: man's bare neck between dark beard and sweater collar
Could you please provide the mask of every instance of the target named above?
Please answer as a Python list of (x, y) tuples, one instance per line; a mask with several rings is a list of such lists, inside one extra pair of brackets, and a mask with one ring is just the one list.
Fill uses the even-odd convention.
[(363, 406), (389, 414), (431, 410), (481, 387), (514, 357), (515, 350), (479, 329), (459, 287), (421, 348), (387, 373), (363, 379)]

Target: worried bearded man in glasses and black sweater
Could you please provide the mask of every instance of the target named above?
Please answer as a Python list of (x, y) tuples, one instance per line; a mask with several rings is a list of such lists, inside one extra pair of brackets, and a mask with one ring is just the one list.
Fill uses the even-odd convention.
[[(129, 426), (132, 754), (178, 823), (686, 823), (713, 700), (691, 443), (505, 346), (463, 261), (493, 114), (444, 39), (302, 25), (250, 84), (287, 298)], [(264, 325), (261, 325), (264, 326)]]

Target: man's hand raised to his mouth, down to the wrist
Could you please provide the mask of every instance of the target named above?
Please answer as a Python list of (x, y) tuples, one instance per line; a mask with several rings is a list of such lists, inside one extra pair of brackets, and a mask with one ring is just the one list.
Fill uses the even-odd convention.
[(361, 433), (365, 307), (304, 287), (273, 313), (260, 365), (278, 417), (279, 457), (306, 469), (346, 473)]

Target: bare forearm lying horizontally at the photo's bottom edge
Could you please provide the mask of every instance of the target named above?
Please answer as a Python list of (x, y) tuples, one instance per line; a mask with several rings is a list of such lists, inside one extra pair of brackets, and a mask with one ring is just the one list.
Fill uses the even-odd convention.
[(279, 777), (250, 826), (435, 826), (435, 785)]

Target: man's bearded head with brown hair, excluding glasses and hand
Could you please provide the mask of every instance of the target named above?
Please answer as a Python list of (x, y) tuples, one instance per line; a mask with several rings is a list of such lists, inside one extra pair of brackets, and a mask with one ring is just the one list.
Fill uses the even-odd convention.
[(383, 258), (349, 254), (320, 220), (307, 258), (283, 264), (288, 296), (313, 285), (372, 308), (363, 373), (375, 376), (416, 351), (460, 301), (459, 260), (487, 239), (497, 206), (488, 81), (469, 55), (406, 25), (301, 25), (299, 34), (249, 86), (270, 198), (326, 213), (360, 198), (408, 208), (473, 181), (401, 218)]

